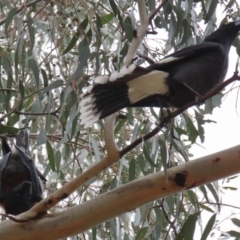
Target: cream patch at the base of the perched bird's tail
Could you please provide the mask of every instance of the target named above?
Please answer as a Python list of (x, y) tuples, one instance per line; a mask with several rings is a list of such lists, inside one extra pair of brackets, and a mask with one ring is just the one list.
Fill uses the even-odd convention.
[(154, 94), (168, 94), (169, 87), (166, 84), (168, 75), (166, 72), (152, 71), (129, 81), (127, 85), (130, 102), (133, 104)]

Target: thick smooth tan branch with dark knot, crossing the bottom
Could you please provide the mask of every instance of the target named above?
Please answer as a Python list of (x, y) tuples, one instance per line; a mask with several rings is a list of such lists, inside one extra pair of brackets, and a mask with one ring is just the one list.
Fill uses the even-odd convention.
[(158, 172), (38, 221), (19, 224), (6, 220), (0, 224), (0, 239), (53, 240), (71, 236), (147, 202), (239, 172), (240, 145), (170, 168), (167, 180), (164, 172)]

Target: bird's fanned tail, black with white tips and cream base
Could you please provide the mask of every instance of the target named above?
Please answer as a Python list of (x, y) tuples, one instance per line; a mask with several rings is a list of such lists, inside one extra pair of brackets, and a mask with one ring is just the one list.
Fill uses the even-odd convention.
[(168, 75), (166, 72), (130, 65), (110, 76), (98, 76), (96, 84), (88, 87), (80, 103), (81, 124), (88, 127), (148, 96), (167, 94)]

